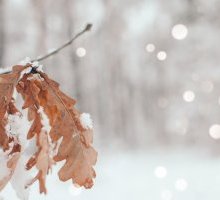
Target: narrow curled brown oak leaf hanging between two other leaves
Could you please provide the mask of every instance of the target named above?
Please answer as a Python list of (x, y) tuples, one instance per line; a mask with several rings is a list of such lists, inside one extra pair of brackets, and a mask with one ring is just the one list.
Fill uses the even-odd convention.
[(38, 169), (38, 174), (31, 180), (28, 186), (38, 180), (40, 193), (46, 193), (46, 175), (54, 161), (50, 156), (48, 134), (42, 129), (42, 116), (40, 113), (40, 104), (38, 98), (40, 88), (38, 87), (38, 84), (40, 84), (40, 80), (36, 79), (33, 74), (25, 74), (17, 85), (17, 91), (21, 93), (24, 98), (23, 109), (28, 108), (31, 115), (29, 119), (33, 119), (33, 123), (27, 134), (27, 139), (31, 139), (32, 137), (36, 136), (38, 147), (38, 151), (29, 159), (28, 163), (26, 164), (28, 170), (33, 166), (36, 166)]

